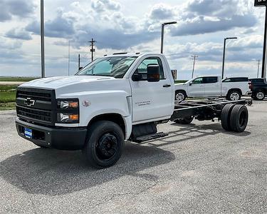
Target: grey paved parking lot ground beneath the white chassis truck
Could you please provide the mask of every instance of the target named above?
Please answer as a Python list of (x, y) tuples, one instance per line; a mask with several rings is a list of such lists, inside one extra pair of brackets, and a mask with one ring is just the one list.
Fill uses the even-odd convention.
[(220, 123), (168, 123), (169, 136), (126, 143), (117, 165), (95, 170), (80, 151), (19, 138), (0, 113), (0, 213), (267, 213), (267, 102), (248, 107), (244, 133)]

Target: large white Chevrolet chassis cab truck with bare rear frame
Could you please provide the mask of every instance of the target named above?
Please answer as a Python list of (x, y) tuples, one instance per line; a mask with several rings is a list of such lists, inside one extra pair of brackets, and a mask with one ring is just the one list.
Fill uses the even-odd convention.
[(41, 148), (82, 150), (90, 165), (107, 168), (125, 141), (167, 136), (157, 124), (219, 118), (227, 131), (248, 123), (246, 101), (174, 103), (175, 86), (162, 54), (98, 58), (75, 76), (41, 78), (19, 86), (16, 128)]

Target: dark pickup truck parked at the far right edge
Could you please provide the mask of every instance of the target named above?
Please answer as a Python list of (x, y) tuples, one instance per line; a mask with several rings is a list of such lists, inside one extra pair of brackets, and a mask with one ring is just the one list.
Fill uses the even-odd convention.
[(266, 78), (251, 78), (252, 98), (257, 101), (263, 101), (267, 94)]

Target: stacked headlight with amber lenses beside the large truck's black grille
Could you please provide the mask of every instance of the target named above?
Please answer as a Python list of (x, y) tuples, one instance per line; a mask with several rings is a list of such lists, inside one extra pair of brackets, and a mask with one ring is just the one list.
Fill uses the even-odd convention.
[(78, 99), (58, 99), (57, 106), (58, 123), (79, 123)]

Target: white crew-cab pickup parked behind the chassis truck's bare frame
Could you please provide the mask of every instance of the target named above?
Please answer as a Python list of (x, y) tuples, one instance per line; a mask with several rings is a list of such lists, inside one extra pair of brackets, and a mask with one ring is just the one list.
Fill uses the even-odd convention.
[(251, 93), (248, 78), (225, 78), (221, 81), (221, 76), (199, 76), (186, 83), (175, 84), (177, 101), (184, 101), (187, 97), (226, 97), (229, 101), (236, 101), (241, 96), (251, 96)]

